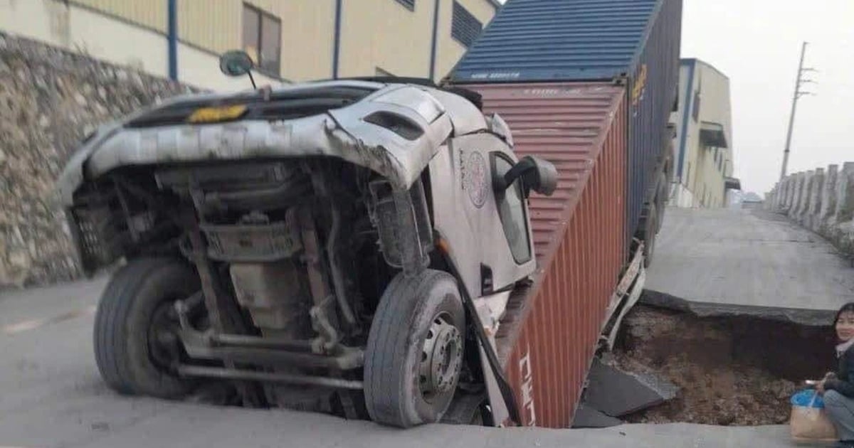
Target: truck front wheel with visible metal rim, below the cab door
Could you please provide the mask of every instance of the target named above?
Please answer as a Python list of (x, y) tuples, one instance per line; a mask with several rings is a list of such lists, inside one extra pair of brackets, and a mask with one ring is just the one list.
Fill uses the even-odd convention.
[(380, 299), (365, 352), (365, 404), (375, 422), (438, 422), (463, 364), (465, 311), (453, 276), (395, 276)]

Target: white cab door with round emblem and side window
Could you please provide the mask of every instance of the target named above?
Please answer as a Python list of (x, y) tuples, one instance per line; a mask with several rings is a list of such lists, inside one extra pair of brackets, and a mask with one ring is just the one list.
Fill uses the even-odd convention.
[(516, 161), (503, 140), (479, 133), (453, 138), (430, 162), (436, 230), (472, 297), (512, 286), (535, 269), (521, 185), (494, 188), (494, 177)]

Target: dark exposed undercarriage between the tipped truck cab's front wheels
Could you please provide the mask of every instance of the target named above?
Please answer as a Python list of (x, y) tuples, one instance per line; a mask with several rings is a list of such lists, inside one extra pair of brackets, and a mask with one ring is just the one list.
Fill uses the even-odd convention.
[[(125, 253), (194, 266), (199, 280), (184, 270), (184, 282), (198, 290), (163, 298), (146, 331), (150, 358), (167, 375), (188, 387), (192, 381), (184, 378), (240, 381), (243, 404), (337, 407), (366, 418), (358, 402), (383, 291), (395, 275), (418, 276), (441, 263), (428, 255), (433, 235), (424, 183), (402, 193), (336, 160), (130, 169), (81, 191), (85, 207), (75, 216), (83, 232), (101, 232), (80, 236), (91, 262)], [(126, 253), (132, 247), (138, 253)], [(103, 308), (98, 318), (111, 318)], [(452, 314), (436, 314), (419, 349), (423, 396), (449, 399), (456, 388), (465, 317)], [(114, 343), (103, 339), (96, 337), (101, 361)], [(102, 372), (120, 364), (101, 361)], [(123, 382), (120, 369), (103, 373)]]

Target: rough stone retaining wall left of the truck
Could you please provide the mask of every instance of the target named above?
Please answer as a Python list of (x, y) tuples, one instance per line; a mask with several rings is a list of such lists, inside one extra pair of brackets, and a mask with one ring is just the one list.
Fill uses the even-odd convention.
[(79, 276), (56, 177), (97, 125), (186, 91), (0, 32), (0, 288)]

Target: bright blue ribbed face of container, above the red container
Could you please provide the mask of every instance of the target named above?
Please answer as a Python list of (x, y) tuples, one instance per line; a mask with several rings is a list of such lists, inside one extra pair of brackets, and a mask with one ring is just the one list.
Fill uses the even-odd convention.
[(454, 82), (614, 79), (633, 73), (663, 0), (508, 0)]

